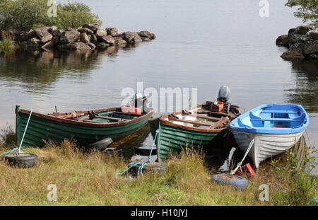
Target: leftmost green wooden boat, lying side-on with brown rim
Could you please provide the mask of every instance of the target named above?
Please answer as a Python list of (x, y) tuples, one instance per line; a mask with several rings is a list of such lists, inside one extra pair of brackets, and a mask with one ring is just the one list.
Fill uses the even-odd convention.
[[(125, 113), (122, 108), (54, 112), (47, 115), (32, 112), (23, 146), (43, 146), (43, 140), (60, 143), (64, 139), (73, 139), (78, 146), (87, 146), (107, 137), (116, 140), (141, 129), (152, 114), (152, 110), (141, 115)], [(29, 115), (29, 110), (16, 105), (16, 135), (19, 143)]]

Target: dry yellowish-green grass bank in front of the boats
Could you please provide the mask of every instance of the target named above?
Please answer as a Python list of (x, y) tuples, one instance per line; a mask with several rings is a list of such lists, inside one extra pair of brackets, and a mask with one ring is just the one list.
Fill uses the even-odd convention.
[[(1, 142), (0, 142), (1, 143)], [(8, 150), (3, 144), (0, 153)], [(12, 148), (12, 146), (10, 147)], [(28, 148), (25, 152), (37, 154), (40, 163), (33, 168), (11, 168), (0, 161), (0, 204), (1, 205), (276, 205), (307, 204), (293, 202), (299, 199), (284, 193), (279, 184), (288, 189), (287, 180), (277, 183), (277, 179), (265, 178), (257, 174), (249, 179), (244, 191), (235, 190), (230, 185), (220, 185), (211, 181), (211, 171), (207, 170), (202, 155), (196, 151), (183, 152), (172, 156), (166, 163), (164, 174), (147, 173), (128, 180), (127, 175), (115, 173), (125, 170), (124, 158), (105, 156), (98, 151), (84, 154), (74, 148), (70, 141), (60, 146), (47, 143), (45, 148)], [(275, 175), (276, 177), (278, 174)], [(287, 176), (287, 175), (286, 175)], [(299, 176), (299, 178), (302, 178)], [(317, 197), (317, 181), (310, 184), (306, 200)], [(270, 185), (269, 202), (259, 200), (259, 186)], [(47, 200), (47, 186), (57, 185), (57, 201)], [(301, 185), (301, 184), (300, 184)], [(307, 191), (306, 191), (307, 192)], [(287, 202), (281, 202), (290, 197)]]

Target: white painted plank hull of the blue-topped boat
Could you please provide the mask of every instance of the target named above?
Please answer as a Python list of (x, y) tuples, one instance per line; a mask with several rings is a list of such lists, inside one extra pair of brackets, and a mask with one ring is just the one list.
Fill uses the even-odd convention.
[(252, 158), (256, 168), (259, 168), (261, 161), (281, 154), (283, 151), (293, 147), (303, 133), (304, 131), (295, 134), (261, 134), (232, 130), (237, 146), (244, 152), (247, 151), (250, 141), (254, 139), (254, 144), (248, 156)]

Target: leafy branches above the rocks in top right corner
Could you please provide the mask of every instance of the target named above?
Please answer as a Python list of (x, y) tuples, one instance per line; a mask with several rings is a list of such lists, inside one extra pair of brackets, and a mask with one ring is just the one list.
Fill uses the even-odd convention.
[(286, 6), (298, 6), (294, 14), (298, 18), (302, 18), (303, 22), (318, 23), (318, 0), (288, 0)]

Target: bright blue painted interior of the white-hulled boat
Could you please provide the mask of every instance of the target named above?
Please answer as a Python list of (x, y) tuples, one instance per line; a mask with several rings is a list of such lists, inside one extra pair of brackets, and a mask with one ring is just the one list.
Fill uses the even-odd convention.
[(268, 105), (247, 112), (246, 117), (238, 117), (239, 127), (297, 128), (306, 121), (305, 110), (298, 105)]

